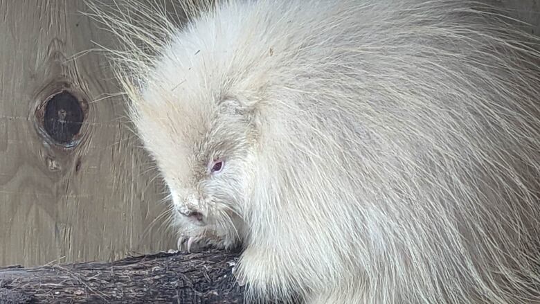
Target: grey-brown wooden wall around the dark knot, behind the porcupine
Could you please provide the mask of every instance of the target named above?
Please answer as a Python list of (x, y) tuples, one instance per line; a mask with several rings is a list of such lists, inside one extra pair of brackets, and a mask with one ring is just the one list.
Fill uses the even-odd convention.
[[(540, 33), (540, 0), (494, 1)], [(111, 37), (81, 10), (82, 0), (0, 0), (0, 266), (175, 247), (165, 189), (123, 119), (107, 61), (86, 52)], [(71, 147), (39, 127), (62, 90), (85, 115)]]

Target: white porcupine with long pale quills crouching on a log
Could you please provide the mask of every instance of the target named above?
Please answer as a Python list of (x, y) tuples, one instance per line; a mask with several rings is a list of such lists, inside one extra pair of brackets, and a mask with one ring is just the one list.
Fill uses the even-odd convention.
[(102, 18), (183, 240), (242, 244), (253, 301), (540, 302), (536, 37), (486, 1), (216, 2)]

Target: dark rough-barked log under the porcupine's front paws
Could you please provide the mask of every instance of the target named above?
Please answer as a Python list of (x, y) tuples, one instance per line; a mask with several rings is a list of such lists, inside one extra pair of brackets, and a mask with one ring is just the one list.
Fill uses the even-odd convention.
[(232, 275), (238, 257), (206, 249), (0, 268), (0, 303), (242, 303)]

